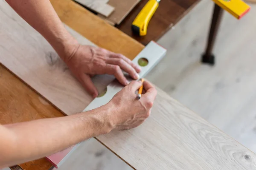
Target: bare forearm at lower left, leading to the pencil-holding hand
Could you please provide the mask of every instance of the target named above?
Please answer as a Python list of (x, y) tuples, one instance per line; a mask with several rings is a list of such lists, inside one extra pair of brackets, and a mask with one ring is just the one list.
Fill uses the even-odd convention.
[(93, 136), (111, 131), (109, 107), (60, 118), (0, 127), (0, 167), (49, 156)]

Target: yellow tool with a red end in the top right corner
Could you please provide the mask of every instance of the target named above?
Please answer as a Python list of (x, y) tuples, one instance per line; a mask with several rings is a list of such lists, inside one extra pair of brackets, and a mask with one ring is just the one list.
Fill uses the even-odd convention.
[(227, 12), (232, 14), (237, 19), (244, 16), (249, 10), (248, 6), (242, 0), (213, 0), (218, 6), (225, 9)]

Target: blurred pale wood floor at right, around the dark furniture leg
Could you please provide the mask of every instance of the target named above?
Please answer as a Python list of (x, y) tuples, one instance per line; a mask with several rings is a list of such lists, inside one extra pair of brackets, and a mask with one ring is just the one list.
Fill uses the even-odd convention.
[(201, 0), (158, 41), (168, 52), (146, 78), (255, 153), (256, 5), (242, 20), (224, 13), (209, 67), (200, 57), (213, 7)]

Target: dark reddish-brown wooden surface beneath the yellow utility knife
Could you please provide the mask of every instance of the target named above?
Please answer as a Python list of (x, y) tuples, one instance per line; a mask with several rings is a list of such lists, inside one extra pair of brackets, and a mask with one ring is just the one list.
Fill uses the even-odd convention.
[(157, 11), (148, 25), (147, 35), (139, 37), (134, 35), (131, 24), (148, 0), (141, 0), (140, 3), (128, 14), (122, 23), (117, 26), (121, 31), (128, 34), (140, 43), (147, 45), (151, 40), (157, 41), (174, 26), (199, 0), (161, 0)]

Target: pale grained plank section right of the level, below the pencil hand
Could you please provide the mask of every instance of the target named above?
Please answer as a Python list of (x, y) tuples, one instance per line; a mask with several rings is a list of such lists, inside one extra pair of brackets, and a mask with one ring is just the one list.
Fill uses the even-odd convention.
[[(256, 154), (210, 125), (168, 94), (158, 94), (151, 116), (128, 131), (97, 139), (136, 170), (256, 170)], [(86, 166), (81, 144), (60, 167)]]

